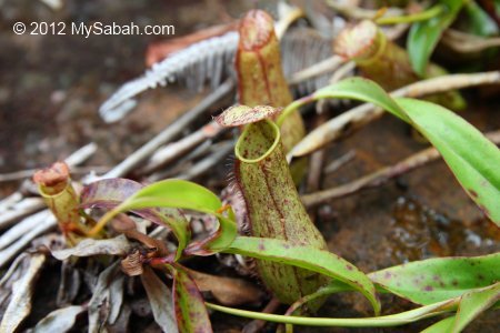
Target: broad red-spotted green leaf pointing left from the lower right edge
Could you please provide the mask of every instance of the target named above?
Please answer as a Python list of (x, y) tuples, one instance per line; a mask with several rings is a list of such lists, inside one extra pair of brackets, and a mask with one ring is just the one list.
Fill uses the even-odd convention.
[(384, 290), (418, 304), (446, 301), (500, 280), (500, 253), (439, 258), (370, 273)]

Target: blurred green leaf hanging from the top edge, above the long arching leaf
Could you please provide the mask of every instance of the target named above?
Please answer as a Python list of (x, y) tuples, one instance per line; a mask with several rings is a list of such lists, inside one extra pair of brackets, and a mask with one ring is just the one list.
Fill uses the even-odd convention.
[(407, 49), (413, 70), (424, 77), (427, 63), (432, 54), (439, 38), (456, 19), (463, 6), (463, 0), (441, 0), (446, 10), (438, 17), (428, 21), (416, 22), (410, 28)]

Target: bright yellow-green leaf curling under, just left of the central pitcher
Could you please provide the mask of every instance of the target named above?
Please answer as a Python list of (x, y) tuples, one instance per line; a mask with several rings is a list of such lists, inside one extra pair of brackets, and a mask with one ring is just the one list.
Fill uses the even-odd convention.
[[(191, 254), (209, 255), (218, 252), (227, 248), (237, 234), (237, 225), (231, 211), (229, 218), (218, 212), (222, 206), (219, 198), (208, 189), (183, 180), (164, 180), (148, 185), (129, 196), (104, 218), (109, 220), (121, 212), (159, 206), (194, 210), (217, 216), (218, 230), (209, 236), (208, 242), (197, 243), (197, 246), (191, 249)], [(179, 233), (179, 249), (176, 256), (179, 259), (189, 239), (184, 225), (173, 226), (178, 228), (177, 232)]]

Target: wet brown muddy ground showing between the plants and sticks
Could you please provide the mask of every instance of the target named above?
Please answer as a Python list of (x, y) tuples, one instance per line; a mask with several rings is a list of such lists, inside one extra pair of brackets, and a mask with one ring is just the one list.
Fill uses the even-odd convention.
[[(84, 39), (76, 36), (16, 36), (17, 21), (117, 21), (169, 23), (176, 37), (200, 28), (238, 18), (252, 3), (234, 1), (111, 1), (82, 3), (64, 1), (52, 10), (41, 1), (2, 1), (0, 12), (0, 172), (44, 167), (64, 158), (88, 142), (99, 145), (87, 165), (110, 168), (194, 105), (204, 93), (171, 85), (143, 94), (133, 113), (114, 124), (98, 115), (99, 105), (121, 83), (144, 70), (144, 52), (162, 37), (113, 36)], [(500, 101), (467, 90), (469, 109), (463, 117), (482, 131), (500, 128)], [(220, 111), (220, 105), (211, 112)], [(339, 110), (330, 110), (334, 115)], [(312, 114), (307, 119), (312, 123)], [(197, 128), (210, 117), (193, 124)], [(386, 115), (354, 135), (328, 148), (327, 161), (356, 151), (356, 159), (326, 176), (322, 188), (346, 183), (423, 149), (412, 139), (409, 128)], [(213, 174), (198, 181), (213, 190), (224, 186), (222, 163)], [(209, 179), (209, 180), (207, 180)], [(0, 183), (7, 195), (18, 182)], [(322, 204), (313, 213), (331, 251), (364, 271), (373, 271), (406, 261), (444, 255), (478, 255), (500, 250), (500, 232), (461, 190), (442, 161), (433, 162), (377, 189)], [(211, 270), (217, 262), (197, 263)], [(58, 263), (51, 266), (58, 272)], [(217, 270), (217, 269), (216, 269)], [(44, 272), (43, 276), (54, 276)], [(43, 281), (43, 280), (42, 280)], [(53, 285), (52, 285), (53, 284)], [(58, 283), (50, 283), (54, 289)], [(47, 289), (48, 291), (51, 287)], [(50, 293), (37, 296), (37, 304), (50, 301)], [(391, 300), (387, 299), (386, 304)], [(368, 305), (350, 296), (332, 297), (321, 315), (360, 315)], [(386, 312), (408, 307), (397, 302)], [(43, 311), (42, 311), (43, 312)], [(29, 324), (41, 316), (37, 313)], [(494, 332), (497, 313), (483, 315), (470, 329)], [(216, 314), (216, 331), (237, 332), (246, 321)], [(428, 323), (427, 323), (428, 324)], [(139, 325), (142, 327), (142, 325)], [(139, 327), (138, 326), (138, 327)], [(137, 327), (137, 329), (138, 329)], [(150, 326), (151, 327), (151, 326)], [(412, 330), (423, 327), (416, 325)], [(150, 329), (154, 331), (153, 329)], [(133, 331), (133, 330), (132, 330)], [(229, 332), (227, 331), (227, 332)], [(321, 332), (344, 332), (324, 329)], [(349, 332), (358, 330), (350, 330)], [(359, 330), (369, 332), (370, 330)], [(372, 330), (370, 332), (401, 332)], [(318, 330), (304, 330), (318, 332)]]

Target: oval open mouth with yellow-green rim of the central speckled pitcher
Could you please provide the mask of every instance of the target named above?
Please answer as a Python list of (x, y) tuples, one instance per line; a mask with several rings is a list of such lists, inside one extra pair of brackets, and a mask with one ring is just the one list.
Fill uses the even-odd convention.
[(274, 151), (280, 139), (278, 125), (270, 120), (248, 124), (234, 147), (234, 155), (241, 162), (258, 163)]

